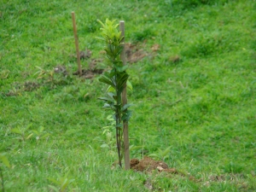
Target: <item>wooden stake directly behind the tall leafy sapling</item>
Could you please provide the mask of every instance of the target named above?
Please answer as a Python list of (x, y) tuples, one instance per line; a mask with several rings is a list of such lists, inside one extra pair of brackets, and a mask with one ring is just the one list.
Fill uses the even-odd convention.
[[(125, 21), (120, 20), (119, 23), (121, 35), (125, 37)], [(125, 60), (125, 38), (122, 40), (123, 43), (123, 51), (121, 52), (121, 60), (123, 61), (123, 65), (126, 65), (126, 60)], [(122, 102), (123, 106), (127, 104), (127, 93), (126, 93), (126, 84), (124, 85), (125, 88), (122, 92)], [(124, 134), (124, 147), (125, 147), (125, 170), (130, 169), (130, 149), (129, 149), (129, 132), (128, 132), (128, 122), (123, 121), (124, 129), (123, 129), (123, 134)]]

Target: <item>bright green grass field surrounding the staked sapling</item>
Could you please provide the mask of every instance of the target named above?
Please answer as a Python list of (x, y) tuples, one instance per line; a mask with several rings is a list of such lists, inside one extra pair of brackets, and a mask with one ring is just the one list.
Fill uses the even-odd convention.
[[(5, 190), (256, 191), (255, 9), (255, 0), (1, 0)], [(102, 134), (109, 113), (97, 100), (106, 87), (73, 75), (72, 11), (91, 58), (104, 57), (96, 20), (125, 20), (125, 41), (147, 55), (128, 63), (131, 158), (157, 154), (183, 174), (111, 168), (117, 154), (101, 147), (113, 141)]]

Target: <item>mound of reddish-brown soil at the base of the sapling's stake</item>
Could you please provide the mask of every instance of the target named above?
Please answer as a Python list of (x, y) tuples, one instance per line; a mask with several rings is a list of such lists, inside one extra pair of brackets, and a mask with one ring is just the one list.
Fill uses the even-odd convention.
[(178, 173), (175, 168), (169, 168), (164, 161), (153, 160), (147, 156), (145, 156), (143, 160), (132, 159), (130, 166), (131, 169), (136, 172), (152, 172), (157, 170), (158, 172)]

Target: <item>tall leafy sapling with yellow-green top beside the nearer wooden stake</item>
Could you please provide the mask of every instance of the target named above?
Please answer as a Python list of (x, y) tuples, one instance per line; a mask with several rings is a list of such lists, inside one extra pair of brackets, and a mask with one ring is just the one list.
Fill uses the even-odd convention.
[(127, 66), (123, 65), (120, 59), (120, 53), (123, 50), (122, 40), (124, 37), (121, 36), (121, 32), (118, 32), (117, 26), (119, 24), (114, 24), (115, 20), (106, 20), (105, 24), (99, 20), (102, 25), (102, 38), (105, 43), (104, 50), (107, 53), (108, 66), (111, 70), (104, 73), (99, 79), (102, 83), (108, 84), (108, 92), (106, 97), (100, 97), (99, 99), (105, 101), (103, 108), (106, 110), (113, 111), (113, 119), (115, 120), (115, 130), (116, 130), (116, 145), (119, 156), (119, 166), (122, 166), (122, 121), (128, 122), (131, 118), (131, 111), (127, 110), (131, 104), (122, 103), (122, 92), (125, 88), (126, 82), (129, 75), (126, 73)]

